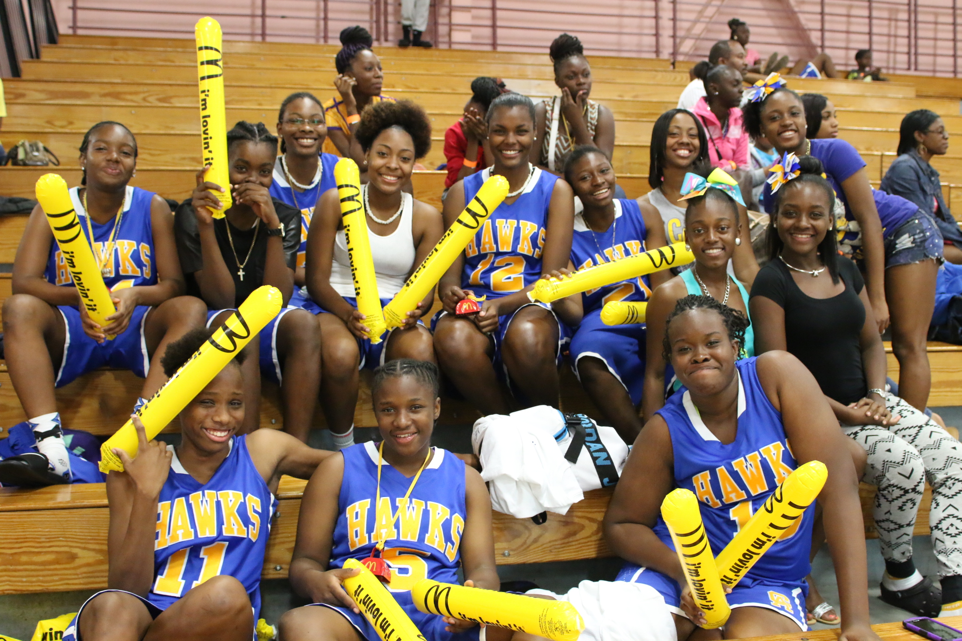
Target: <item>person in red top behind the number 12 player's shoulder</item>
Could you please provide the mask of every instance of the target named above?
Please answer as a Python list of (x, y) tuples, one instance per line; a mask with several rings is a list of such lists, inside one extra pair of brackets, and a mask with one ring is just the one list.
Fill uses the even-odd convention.
[(464, 115), (444, 132), (445, 194), (462, 178), (494, 163), (485, 116), (491, 101), (499, 95), (501, 87), (497, 86), (496, 79), (481, 76), (471, 81), (471, 98), (465, 105)]

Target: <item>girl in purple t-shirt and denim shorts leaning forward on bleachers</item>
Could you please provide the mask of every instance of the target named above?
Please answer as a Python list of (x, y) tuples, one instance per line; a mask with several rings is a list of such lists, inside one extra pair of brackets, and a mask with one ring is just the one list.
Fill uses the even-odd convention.
[[(889, 326), (891, 313), (901, 398), (924, 410), (931, 384), (925, 334), (935, 301), (935, 275), (942, 261), (942, 238), (935, 223), (915, 203), (873, 189), (865, 160), (847, 141), (808, 139), (804, 107), (795, 91), (781, 86), (767, 95), (759, 91), (754, 97), (744, 110), (748, 133), (768, 137), (782, 157), (782, 163), (776, 165), (781, 167), (779, 176), (762, 191), (766, 210), (774, 210), (773, 189), (797, 171), (797, 160), (786, 154), (810, 155), (822, 161), (828, 183), (841, 203), (834, 211), (839, 246), (865, 277), (879, 333)], [(783, 167), (785, 162), (793, 166)]]

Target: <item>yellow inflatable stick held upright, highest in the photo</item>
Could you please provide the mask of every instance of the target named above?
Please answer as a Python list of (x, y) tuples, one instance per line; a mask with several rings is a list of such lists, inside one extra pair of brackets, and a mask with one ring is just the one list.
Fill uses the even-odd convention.
[(200, 142), (204, 166), (211, 165), (204, 180), (220, 185), (223, 193), (215, 193), (220, 210), (212, 211), (223, 218), (231, 208), (231, 177), (227, 165), (227, 114), (224, 107), (224, 64), (220, 24), (212, 17), (197, 20), (193, 28), (197, 41), (197, 86), (200, 92)]

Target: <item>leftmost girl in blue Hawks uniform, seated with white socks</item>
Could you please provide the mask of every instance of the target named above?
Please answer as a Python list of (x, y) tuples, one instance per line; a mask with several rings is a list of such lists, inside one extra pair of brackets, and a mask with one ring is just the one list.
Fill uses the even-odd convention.
[(182, 296), (170, 208), (129, 185), (137, 169), (134, 135), (120, 123), (94, 125), (81, 143), (80, 166), (84, 180), (70, 199), (116, 312), (106, 327), (90, 319), (40, 206), (20, 240), (13, 296), (3, 308), (13, 388), (40, 453), (68, 479), (54, 388), (109, 365), (145, 377), (140, 396), (149, 398), (165, 382), (160, 358), (167, 343), (204, 323), (203, 304)]

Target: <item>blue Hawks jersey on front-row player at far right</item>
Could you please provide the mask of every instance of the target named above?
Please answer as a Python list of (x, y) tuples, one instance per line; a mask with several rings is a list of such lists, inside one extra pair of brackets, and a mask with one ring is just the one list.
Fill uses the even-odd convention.
[[(797, 467), (789, 449), (781, 413), (758, 381), (756, 358), (735, 363), (739, 374), (738, 432), (727, 445), (713, 434), (682, 387), (656, 413), (668, 423), (674, 453), (674, 487), (695, 493), (712, 553), (718, 555), (755, 510)], [(777, 541), (748, 571), (755, 579), (801, 580), (810, 571), (815, 506), (805, 510), (795, 530)], [(659, 516), (654, 528), (672, 550), (671, 535)]]

